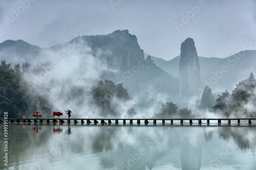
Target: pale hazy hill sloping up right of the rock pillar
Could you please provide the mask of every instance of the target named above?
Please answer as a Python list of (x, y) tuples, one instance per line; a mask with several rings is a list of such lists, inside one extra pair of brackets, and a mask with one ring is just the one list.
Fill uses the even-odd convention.
[(230, 92), (241, 80), (247, 79), (250, 72), (256, 74), (256, 50), (241, 51), (220, 60), (205, 73), (202, 83), (213, 91), (227, 89)]

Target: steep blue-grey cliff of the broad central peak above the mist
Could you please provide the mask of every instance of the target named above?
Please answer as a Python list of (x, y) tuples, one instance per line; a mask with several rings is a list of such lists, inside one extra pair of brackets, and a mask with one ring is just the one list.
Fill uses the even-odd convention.
[[(144, 62), (143, 50), (137, 37), (128, 30), (117, 30), (108, 35), (83, 36), (82, 39), (91, 47), (92, 55), (106, 61), (111, 68), (126, 71)], [(99, 49), (102, 52), (100, 55)]]

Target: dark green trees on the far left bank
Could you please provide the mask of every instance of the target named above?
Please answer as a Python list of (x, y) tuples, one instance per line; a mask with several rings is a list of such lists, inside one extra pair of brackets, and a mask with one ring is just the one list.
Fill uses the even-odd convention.
[(19, 64), (11, 67), (11, 63), (1, 61), (0, 65), (0, 110), (1, 113), (8, 112), (9, 118), (32, 115), (40, 108), (42, 111), (49, 111), (47, 100), (36, 94), (30, 94), (31, 87), (23, 81), (22, 76), (32, 70), (28, 63), (22, 66)]

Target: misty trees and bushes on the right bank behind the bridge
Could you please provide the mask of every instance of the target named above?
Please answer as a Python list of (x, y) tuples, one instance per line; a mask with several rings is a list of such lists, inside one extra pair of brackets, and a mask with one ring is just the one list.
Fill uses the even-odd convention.
[[(198, 109), (214, 112), (224, 117), (246, 117), (253, 118), (256, 116), (256, 80), (251, 72), (249, 79), (243, 80), (237, 84), (237, 87), (230, 94), (227, 90), (218, 95), (218, 99), (214, 98), (211, 89), (205, 86), (201, 102)], [(172, 102), (162, 103), (159, 112), (153, 117), (166, 118), (194, 118), (188, 108), (179, 109)]]

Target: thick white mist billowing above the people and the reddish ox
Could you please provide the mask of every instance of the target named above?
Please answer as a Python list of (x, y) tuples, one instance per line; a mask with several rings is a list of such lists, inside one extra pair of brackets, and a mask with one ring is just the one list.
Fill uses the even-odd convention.
[[(39, 58), (40, 62), (48, 64), (47, 67), (42, 67), (44, 70), (38, 72), (31, 70), (23, 76), (34, 95), (44, 96), (52, 105), (51, 112), (70, 109), (73, 111), (72, 117), (81, 118), (102, 115), (92, 100), (91, 90), (103, 72), (117, 70), (109, 69), (106, 63), (97, 59), (100, 49), (95, 57), (90, 54), (91, 48), (84, 44), (79, 39), (60, 52), (52, 48), (43, 49)], [(114, 97), (111, 105), (120, 112), (120, 117), (125, 117), (134, 102), (123, 102)]]

